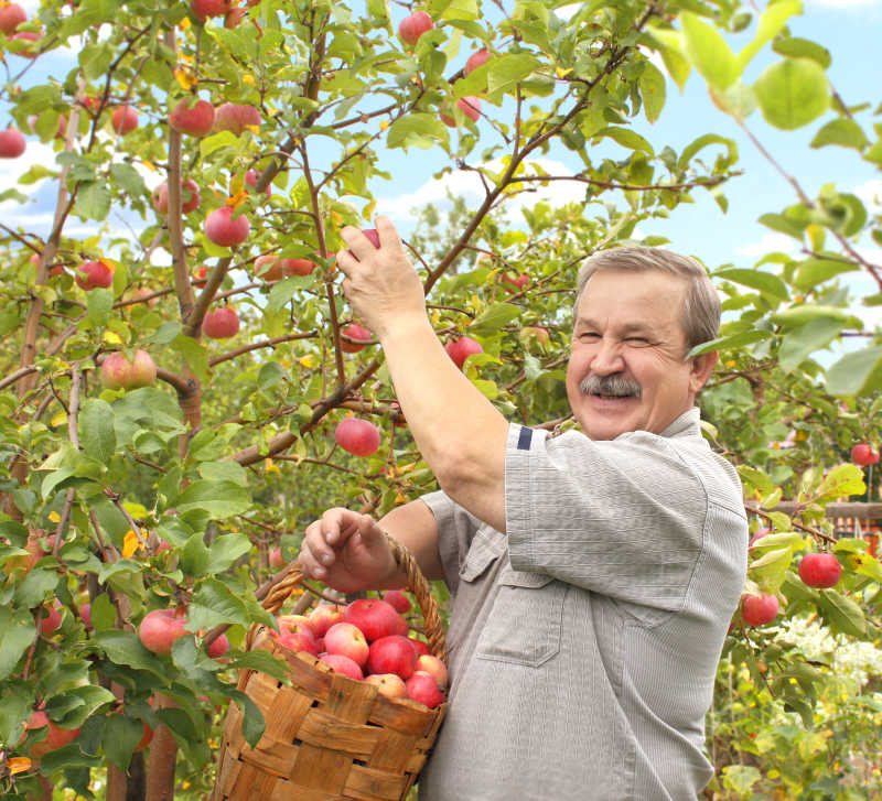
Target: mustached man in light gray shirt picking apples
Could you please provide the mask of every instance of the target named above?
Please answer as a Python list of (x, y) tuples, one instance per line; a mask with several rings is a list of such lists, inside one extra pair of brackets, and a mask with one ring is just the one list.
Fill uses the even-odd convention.
[(402, 586), (380, 530), (451, 589), (450, 710), (431, 801), (692, 801), (704, 715), (746, 570), (732, 466), (701, 436), (719, 299), (691, 259), (620, 248), (579, 277), (567, 393), (582, 432), (507, 423), (448, 358), (388, 220), (343, 231), (343, 289), (383, 345), (441, 491), (387, 515), (332, 509), (304, 572)]

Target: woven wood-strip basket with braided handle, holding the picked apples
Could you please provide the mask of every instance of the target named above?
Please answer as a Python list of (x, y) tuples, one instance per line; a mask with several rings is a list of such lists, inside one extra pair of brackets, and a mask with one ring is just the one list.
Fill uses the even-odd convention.
[[(429, 649), (447, 662), (443, 624), (429, 584), (407, 550), (391, 538), (389, 543), (422, 610)], [(293, 563), (263, 607), (277, 614), (302, 577)], [(291, 685), (266, 673), (239, 671), (238, 688), (260, 708), (267, 728), (251, 748), (241, 735), (238, 706), (229, 705), (212, 801), (406, 798), (447, 704), (430, 710), (407, 699), (389, 699), (373, 684), (334, 673), (309, 653), (283, 648), (262, 626), (250, 628), (246, 643), (287, 659)]]

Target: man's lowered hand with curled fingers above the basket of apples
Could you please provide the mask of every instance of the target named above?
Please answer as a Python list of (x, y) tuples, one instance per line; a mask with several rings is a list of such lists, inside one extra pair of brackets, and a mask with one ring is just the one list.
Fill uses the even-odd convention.
[(306, 527), (298, 556), (304, 576), (341, 593), (400, 585), (386, 535), (368, 515), (329, 509)]

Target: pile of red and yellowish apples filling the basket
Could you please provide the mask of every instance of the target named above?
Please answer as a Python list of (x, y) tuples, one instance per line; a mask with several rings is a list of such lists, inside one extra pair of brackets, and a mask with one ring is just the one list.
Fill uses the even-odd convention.
[(346, 606), (322, 604), (306, 615), (279, 615), (279, 632), (270, 636), (337, 673), (375, 684), (387, 697), (434, 708), (444, 701), (448, 670), (424, 642), (408, 636), (404, 614), (410, 606), (400, 589)]

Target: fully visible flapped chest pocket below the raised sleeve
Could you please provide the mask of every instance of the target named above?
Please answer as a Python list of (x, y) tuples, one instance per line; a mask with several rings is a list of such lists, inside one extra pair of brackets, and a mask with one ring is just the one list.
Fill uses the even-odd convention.
[(475, 656), (538, 668), (560, 651), (563, 599), (569, 586), (542, 573), (499, 573), (498, 592)]

